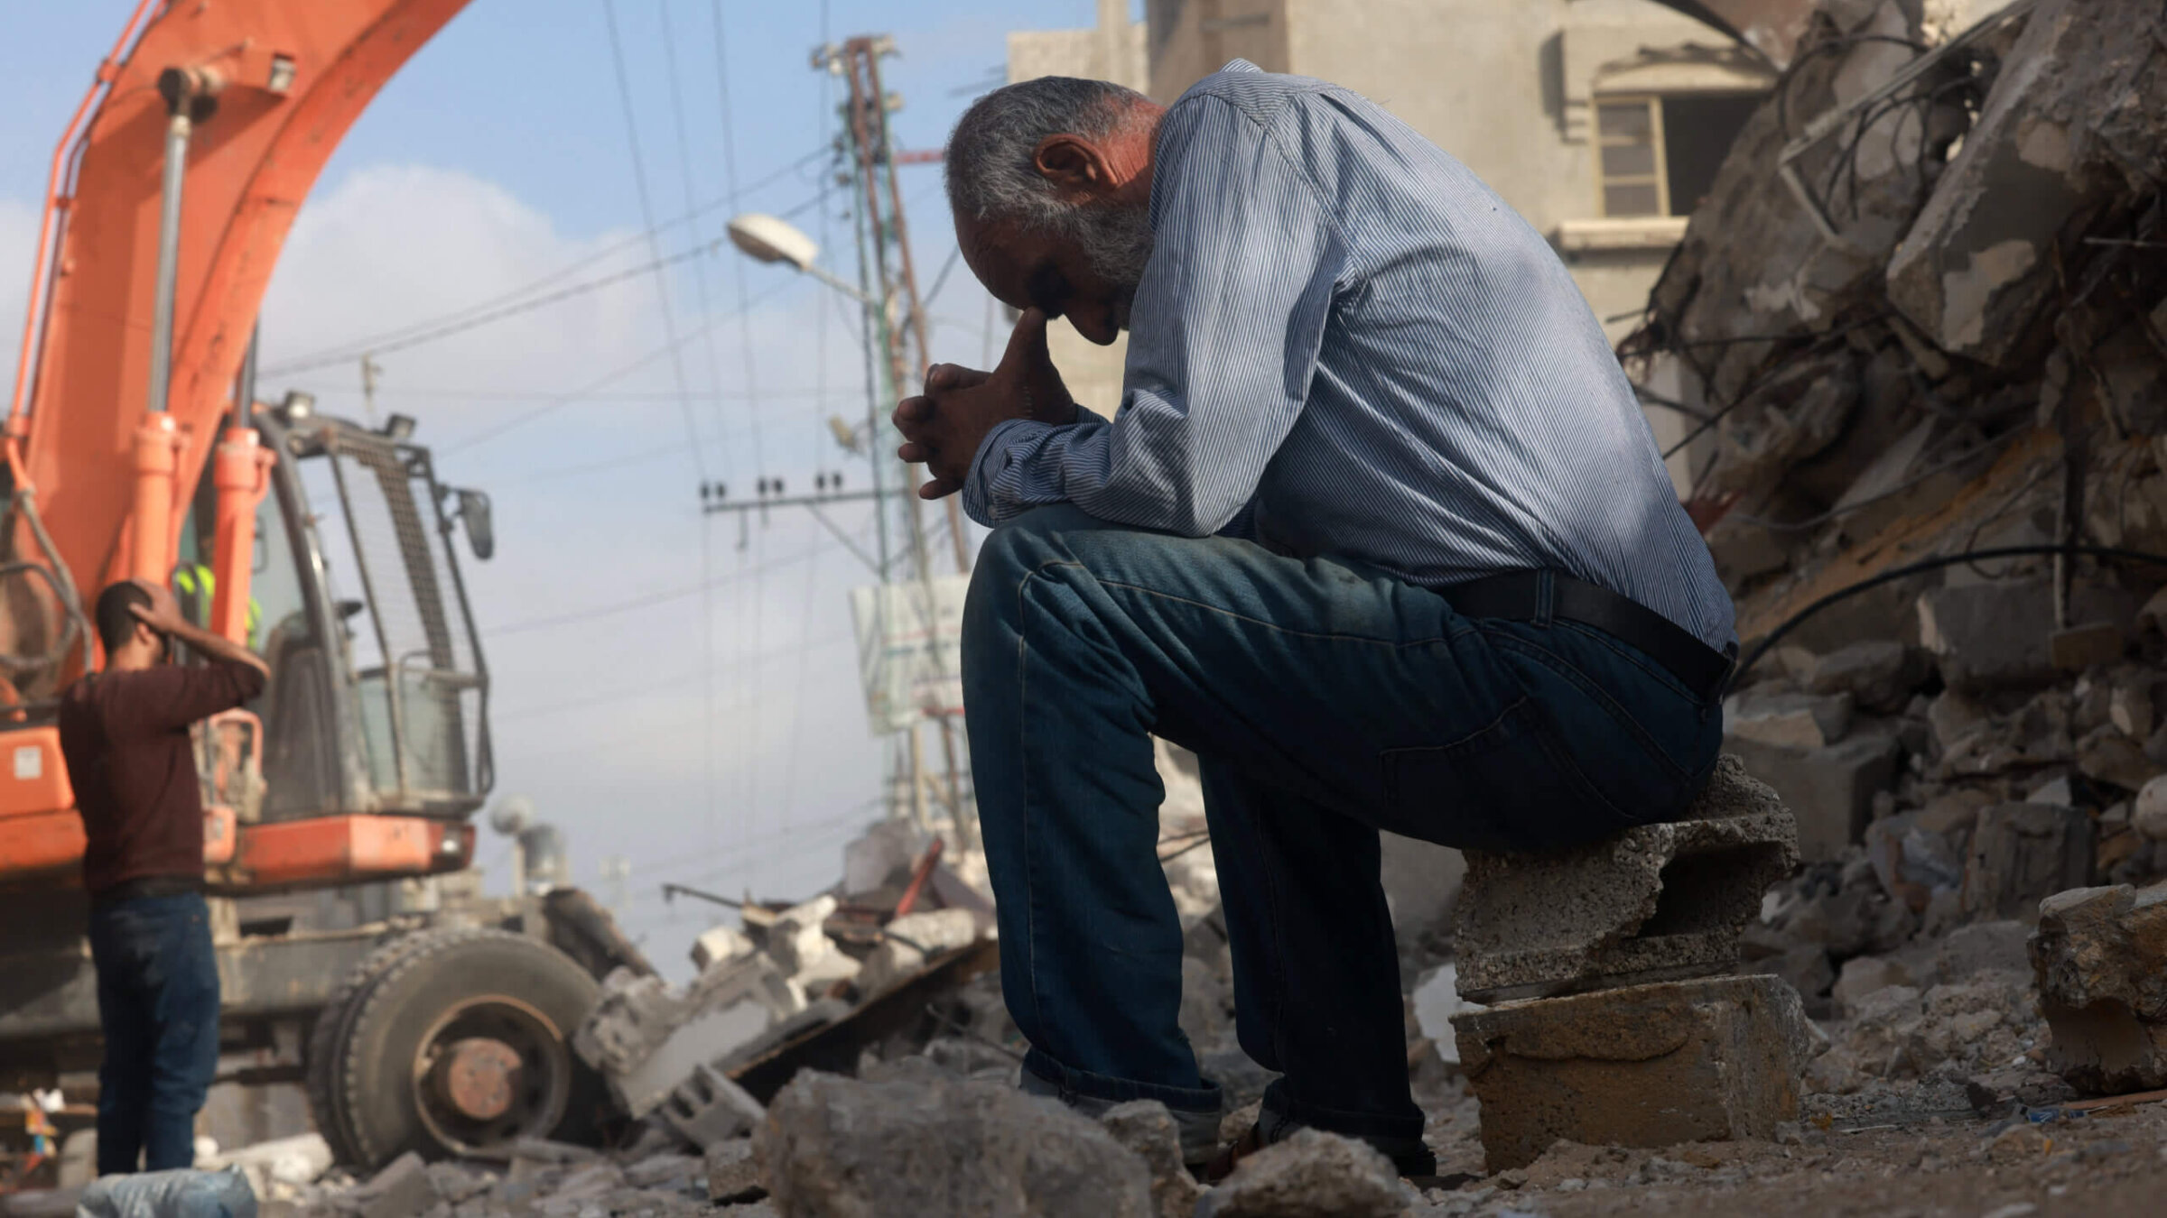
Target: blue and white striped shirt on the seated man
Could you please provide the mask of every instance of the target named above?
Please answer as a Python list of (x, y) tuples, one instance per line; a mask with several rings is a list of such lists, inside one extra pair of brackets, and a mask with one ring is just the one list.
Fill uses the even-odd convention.
[(973, 520), (1068, 501), (1428, 587), (1549, 566), (1736, 642), (1565, 264), (1413, 128), (1233, 61), (1159, 124), (1151, 230), (1120, 412), (995, 427)]

